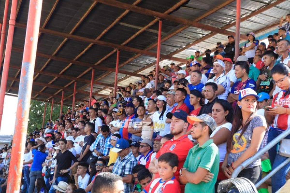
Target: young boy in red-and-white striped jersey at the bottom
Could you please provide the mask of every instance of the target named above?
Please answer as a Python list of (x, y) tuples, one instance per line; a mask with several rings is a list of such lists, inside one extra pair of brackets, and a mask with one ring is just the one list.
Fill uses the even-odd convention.
[(148, 184), (141, 193), (170, 192), (180, 193), (180, 184), (174, 177), (177, 170), (178, 157), (176, 154), (167, 152), (158, 158), (158, 174), (156, 178)]

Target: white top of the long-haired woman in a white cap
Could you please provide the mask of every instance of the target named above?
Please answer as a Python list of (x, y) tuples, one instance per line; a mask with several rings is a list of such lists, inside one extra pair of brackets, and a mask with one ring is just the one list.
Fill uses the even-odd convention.
[(160, 131), (159, 135), (162, 137), (170, 133), (170, 123), (166, 123), (167, 118), (166, 114), (168, 113), (168, 106), (166, 106), (166, 110), (163, 114), (163, 117), (159, 118), (161, 113), (159, 113), (159, 111), (155, 111), (155, 113), (153, 113), (153, 115), (151, 115), (150, 118), (153, 121), (154, 131)]

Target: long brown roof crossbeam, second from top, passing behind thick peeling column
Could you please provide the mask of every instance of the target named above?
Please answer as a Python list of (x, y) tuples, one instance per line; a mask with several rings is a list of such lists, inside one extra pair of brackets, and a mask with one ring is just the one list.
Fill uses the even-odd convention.
[[(15, 27), (20, 27), (20, 28), (26, 29), (26, 24), (15, 23)], [(76, 41), (81, 41), (81, 42), (86, 42), (86, 43), (93, 43), (93, 44), (100, 45), (100, 46), (105, 46), (105, 47), (111, 47), (111, 48), (115, 48), (115, 49), (119, 49), (119, 50), (124, 50), (126, 52), (133, 52), (133, 53), (137, 53), (137, 54), (143, 54), (143, 55), (146, 55), (146, 56), (152, 56), (152, 57), (156, 58), (156, 53), (155, 52), (149, 52), (149, 51), (142, 50), (142, 49), (137, 49), (137, 48), (133, 48), (133, 47), (123, 46), (123, 45), (119, 45), (119, 44), (114, 44), (114, 43), (110, 43), (110, 42), (95, 40), (95, 39), (86, 38), (86, 37), (77, 36), (77, 35), (72, 35), (72, 34), (66, 34), (66, 33), (63, 33), (63, 32), (57, 32), (57, 31), (49, 30), (49, 29), (45, 29), (45, 28), (39, 28), (39, 32), (44, 33), (44, 34), (50, 34), (50, 35), (54, 35), (54, 36), (59, 36), (59, 37), (63, 37), (63, 38), (69, 38), (69, 39), (76, 40)], [(185, 59), (177, 58), (177, 57), (173, 57), (173, 56), (169, 56), (168, 57), (167, 55), (163, 55), (163, 54), (160, 54), (160, 58), (167, 59), (167, 60), (173, 60), (173, 61), (177, 61), (177, 62), (183, 62), (183, 63), (186, 62)]]

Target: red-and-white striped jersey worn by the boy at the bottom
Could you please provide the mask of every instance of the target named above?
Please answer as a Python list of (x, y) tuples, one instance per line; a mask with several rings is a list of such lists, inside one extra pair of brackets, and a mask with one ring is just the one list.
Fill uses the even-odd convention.
[(144, 190), (145, 193), (180, 193), (180, 184), (175, 177), (167, 181), (162, 181), (161, 178), (156, 178), (151, 181)]

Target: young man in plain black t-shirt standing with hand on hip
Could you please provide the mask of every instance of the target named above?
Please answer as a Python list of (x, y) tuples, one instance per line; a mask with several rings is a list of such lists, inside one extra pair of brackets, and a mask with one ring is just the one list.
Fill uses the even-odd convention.
[[(66, 139), (59, 140), (59, 148), (61, 150), (60, 154), (57, 156), (57, 163), (55, 165), (55, 172), (53, 174), (52, 186), (49, 193), (55, 193), (53, 185), (57, 185), (60, 181), (68, 182), (68, 173), (71, 169), (76, 167), (79, 162), (72, 152), (66, 149)], [(74, 164), (71, 165), (72, 161)]]

